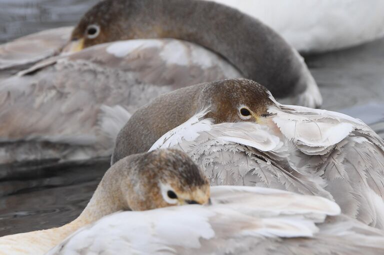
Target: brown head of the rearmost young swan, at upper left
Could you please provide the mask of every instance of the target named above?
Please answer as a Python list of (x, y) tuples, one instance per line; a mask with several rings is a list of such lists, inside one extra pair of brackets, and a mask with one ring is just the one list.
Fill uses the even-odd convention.
[(90, 8), (74, 27), (63, 52), (76, 52), (96, 44), (162, 36), (160, 25), (147, 9), (156, 1), (103, 0)]

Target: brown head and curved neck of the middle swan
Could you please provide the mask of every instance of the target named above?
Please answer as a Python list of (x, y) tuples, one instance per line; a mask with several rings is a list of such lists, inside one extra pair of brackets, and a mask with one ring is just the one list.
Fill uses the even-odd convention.
[[(206, 107), (210, 110), (206, 117), (222, 123), (259, 121), (271, 104), (267, 90), (247, 79), (201, 83), (163, 94), (138, 109), (120, 130), (111, 163), (149, 150), (163, 134)], [(241, 108), (249, 110), (249, 118), (241, 116)]]

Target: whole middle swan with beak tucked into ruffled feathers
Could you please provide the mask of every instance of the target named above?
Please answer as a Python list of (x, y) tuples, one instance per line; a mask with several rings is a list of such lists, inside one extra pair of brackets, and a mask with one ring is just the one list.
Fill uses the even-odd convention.
[(213, 185), (248, 185), (334, 200), (384, 229), (384, 141), (358, 119), (283, 105), (247, 79), (201, 83), (138, 109), (111, 164), (156, 148), (186, 152)]

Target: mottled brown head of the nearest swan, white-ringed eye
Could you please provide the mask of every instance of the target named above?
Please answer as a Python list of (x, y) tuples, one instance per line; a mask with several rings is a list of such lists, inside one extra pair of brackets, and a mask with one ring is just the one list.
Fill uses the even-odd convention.
[(209, 201), (207, 178), (179, 150), (135, 154), (121, 159), (112, 168), (118, 169), (113, 173), (118, 181), (112, 183), (119, 183), (115, 194), (122, 196), (123, 209), (143, 211)]

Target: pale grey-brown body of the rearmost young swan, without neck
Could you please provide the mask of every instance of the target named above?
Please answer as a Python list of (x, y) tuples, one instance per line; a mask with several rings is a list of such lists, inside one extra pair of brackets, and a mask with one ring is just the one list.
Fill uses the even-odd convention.
[(175, 39), (111, 42), (44, 60), (0, 81), (0, 163), (109, 156), (120, 128), (152, 98), (234, 77), (240, 73), (217, 54)]

